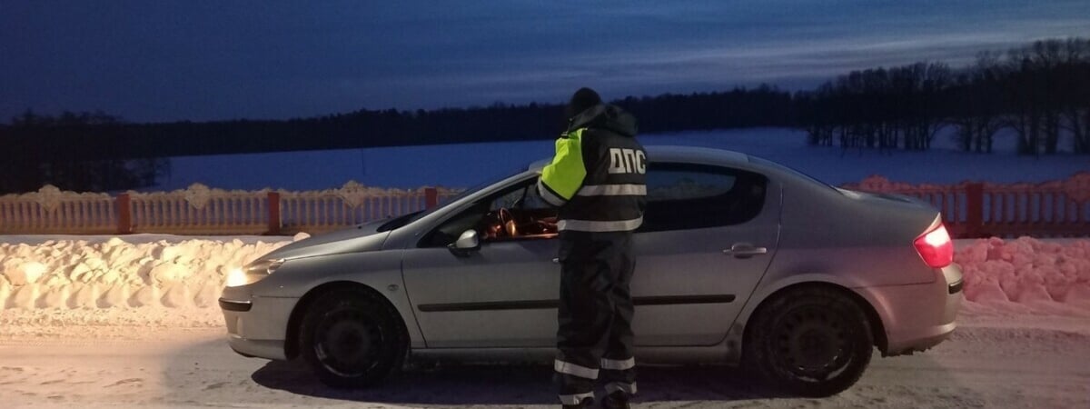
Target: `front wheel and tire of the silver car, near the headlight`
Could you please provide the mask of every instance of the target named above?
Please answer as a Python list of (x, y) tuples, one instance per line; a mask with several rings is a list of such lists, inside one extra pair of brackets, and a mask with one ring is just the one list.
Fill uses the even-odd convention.
[(397, 311), (380, 296), (341, 290), (320, 296), (307, 309), (300, 347), (322, 383), (359, 388), (378, 383), (403, 363), (408, 336)]

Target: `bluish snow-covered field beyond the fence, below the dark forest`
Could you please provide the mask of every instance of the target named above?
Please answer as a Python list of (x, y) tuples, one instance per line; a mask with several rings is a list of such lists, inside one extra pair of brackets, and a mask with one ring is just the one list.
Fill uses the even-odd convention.
[[(871, 175), (910, 183), (1042, 182), (1090, 171), (1090, 158), (1085, 155), (1017, 156), (1010, 133), (996, 137), (994, 154), (961, 153), (955, 149), (949, 131), (936, 136), (931, 152), (895, 151), (892, 156), (877, 151), (843, 153), (839, 147), (808, 146), (806, 133), (791, 129), (681, 132), (641, 135), (639, 140), (644, 145), (738, 151), (790, 166), (831, 184), (858, 182)], [(323, 190), (339, 188), (349, 180), (380, 188), (467, 188), (509, 175), (552, 153), (553, 141), (530, 141), (175, 157), (171, 158), (170, 175), (161, 178), (158, 187), (146, 190), (185, 189), (194, 182), (229, 190)]]

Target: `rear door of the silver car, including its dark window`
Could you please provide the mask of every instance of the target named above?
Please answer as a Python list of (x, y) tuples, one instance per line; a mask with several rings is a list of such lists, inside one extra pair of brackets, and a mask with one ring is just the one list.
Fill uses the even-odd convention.
[(723, 340), (776, 250), (779, 195), (770, 185), (730, 167), (650, 165), (632, 279), (638, 346)]

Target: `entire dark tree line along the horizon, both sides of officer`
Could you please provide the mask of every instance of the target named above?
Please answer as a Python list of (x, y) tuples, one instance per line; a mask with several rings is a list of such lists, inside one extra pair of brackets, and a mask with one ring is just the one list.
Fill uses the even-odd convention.
[[(626, 97), (641, 133), (791, 127), (814, 145), (925, 151), (953, 127), (964, 151), (992, 152), (1003, 129), (1025, 155), (1090, 154), (1090, 40), (1036, 41), (983, 52), (969, 67), (941, 62), (852, 71), (812, 91), (773, 85)], [(289, 120), (131, 123), (104, 112), (27, 110), (0, 124), (10, 151), (0, 193), (53, 183), (77, 191), (152, 185), (166, 157), (554, 139), (562, 104), (368, 110)]]

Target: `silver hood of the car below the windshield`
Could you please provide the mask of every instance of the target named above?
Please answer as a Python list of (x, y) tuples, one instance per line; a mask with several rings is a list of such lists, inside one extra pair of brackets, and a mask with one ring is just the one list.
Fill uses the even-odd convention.
[(262, 258), (302, 258), (316, 255), (360, 253), (378, 251), (389, 236), (389, 231), (378, 231), (386, 220), (356, 225), (347, 229), (316, 234), (291, 244), (284, 245)]

